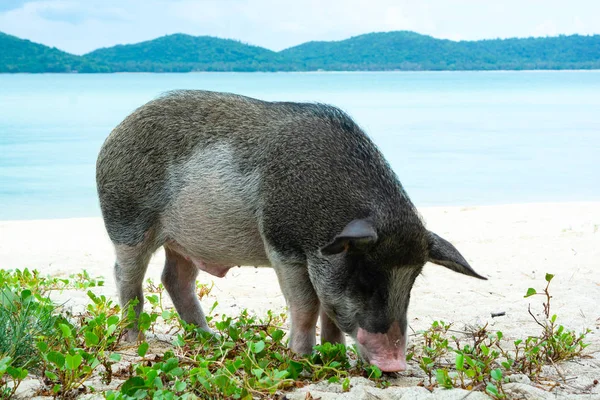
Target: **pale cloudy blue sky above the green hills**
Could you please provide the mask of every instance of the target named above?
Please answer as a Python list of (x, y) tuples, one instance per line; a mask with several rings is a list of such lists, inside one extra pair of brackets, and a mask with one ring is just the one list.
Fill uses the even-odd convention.
[(394, 30), (452, 40), (600, 34), (600, 0), (0, 0), (0, 32), (75, 54), (173, 33), (282, 50)]

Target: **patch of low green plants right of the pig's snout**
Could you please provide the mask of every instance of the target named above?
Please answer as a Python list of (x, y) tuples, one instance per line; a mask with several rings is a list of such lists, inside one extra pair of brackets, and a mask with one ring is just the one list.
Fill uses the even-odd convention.
[[(434, 321), (423, 332), (422, 346), (413, 354), (420, 368), (429, 377), (430, 383), (444, 388), (461, 387), (482, 390), (494, 399), (504, 399), (503, 382), (513, 373), (525, 373), (536, 380), (544, 365), (577, 357), (585, 349), (584, 342), (589, 330), (576, 334), (556, 323), (557, 316), (550, 313), (549, 292), (552, 274), (546, 274), (546, 287), (541, 293), (529, 288), (525, 297), (542, 295), (545, 319), (540, 321), (531, 312), (535, 322), (542, 328), (540, 334), (513, 341), (507, 348), (502, 332), (490, 332), (487, 325), (465, 332), (465, 338), (452, 336), (449, 342), (450, 325)], [(454, 363), (447, 360), (454, 353)], [(435, 376), (435, 383), (433, 377)]]

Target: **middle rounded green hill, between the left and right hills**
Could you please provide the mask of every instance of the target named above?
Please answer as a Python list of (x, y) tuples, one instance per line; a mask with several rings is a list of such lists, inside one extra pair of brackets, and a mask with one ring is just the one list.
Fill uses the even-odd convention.
[(277, 53), (230, 39), (175, 34), (146, 42), (95, 50), (85, 59), (113, 71), (275, 71)]

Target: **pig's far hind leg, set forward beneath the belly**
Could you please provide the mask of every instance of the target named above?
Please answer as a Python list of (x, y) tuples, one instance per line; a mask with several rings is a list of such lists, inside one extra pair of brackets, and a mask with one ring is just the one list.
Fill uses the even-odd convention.
[(198, 268), (188, 258), (165, 247), (165, 268), (161, 276), (163, 285), (171, 297), (181, 319), (203, 330), (210, 331), (206, 317), (196, 294)]

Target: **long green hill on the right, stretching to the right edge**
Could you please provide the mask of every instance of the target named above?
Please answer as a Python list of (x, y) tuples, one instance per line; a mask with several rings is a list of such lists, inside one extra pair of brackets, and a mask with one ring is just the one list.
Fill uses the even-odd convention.
[(600, 35), (455, 42), (414, 32), (309, 42), (281, 52), (303, 70), (600, 68)]

